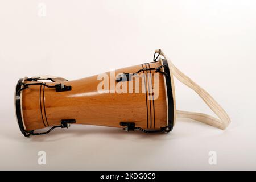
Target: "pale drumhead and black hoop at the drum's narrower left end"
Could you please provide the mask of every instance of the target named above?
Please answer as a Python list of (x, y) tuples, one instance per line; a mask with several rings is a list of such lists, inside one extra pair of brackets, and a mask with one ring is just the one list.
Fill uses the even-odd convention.
[(15, 114), (16, 118), (18, 121), (19, 129), (22, 132), (22, 134), (27, 137), (29, 134), (26, 133), (25, 127), (24, 127), (24, 122), (23, 122), (23, 117), (22, 117), (22, 92), (19, 90), (22, 88), (22, 85), (20, 83), (24, 82), (25, 78), (20, 78), (15, 89), (15, 99), (14, 99), (14, 104), (15, 104)]

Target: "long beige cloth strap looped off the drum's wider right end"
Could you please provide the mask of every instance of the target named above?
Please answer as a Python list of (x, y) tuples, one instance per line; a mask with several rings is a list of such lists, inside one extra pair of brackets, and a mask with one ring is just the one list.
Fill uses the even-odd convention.
[(210, 109), (218, 116), (218, 118), (214, 118), (208, 114), (176, 110), (176, 117), (191, 118), (193, 120), (200, 121), (224, 130), (230, 123), (229, 116), (226, 114), (225, 110), (222, 109), (222, 107), (213, 99), (212, 96), (210, 96), (209, 93), (207, 93), (203, 88), (192, 81), (191, 78), (187, 77), (184, 75), (184, 73), (177, 69), (175, 65), (172, 64), (171, 60), (162, 52), (162, 50), (160, 51), (160, 49), (158, 49), (155, 52), (160, 52), (160, 55), (162, 55), (168, 61), (171, 74), (173, 74), (180, 82), (187, 85), (197, 94), (199, 94), (199, 96), (204, 100), (205, 104), (207, 104)]

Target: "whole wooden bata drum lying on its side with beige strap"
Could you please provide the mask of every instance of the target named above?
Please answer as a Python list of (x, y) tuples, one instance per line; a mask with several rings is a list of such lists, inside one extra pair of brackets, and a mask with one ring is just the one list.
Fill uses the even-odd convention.
[[(176, 110), (173, 76), (195, 90), (218, 118)], [(80, 80), (53, 76), (21, 78), (15, 89), (15, 109), (20, 131), (26, 137), (71, 124), (168, 133), (176, 118), (191, 118), (220, 129), (230, 122), (222, 107), (180, 72), (160, 49), (149, 63)], [(51, 128), (36, 132), (46, 127)]]

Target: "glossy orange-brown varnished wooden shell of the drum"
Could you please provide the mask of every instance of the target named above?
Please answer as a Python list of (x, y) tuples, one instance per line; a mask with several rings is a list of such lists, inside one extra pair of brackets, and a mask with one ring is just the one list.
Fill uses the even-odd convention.
[[(118, 69), (115, 75), (135, 73), (142, 68), (157, 68), (160, 65), (160, 62), (136, 65)], [(144, 78), (140, 80), (139, 90), (145, 86), (144, 82), (147, 82), (146, 85), (149, 83), (148, 89), (154, 88), (155, 71), (144, 71), (145, 74), (150, 72), (152, 77), (149, 77), (149, 80)], [(109, 76), (110, 90), (110, 72), (106, 74)], [(26, 129), (35, 130), (60, 125), (61, 119), (76, 119), (76, 124), (111, 127), (121, 127), (120, 122), (135, 122), (137, 127), (143, 129), (159, 129), (167, 125), (166, 89), (162, 74), (159, 74), (159, 96), (154, 100), (148, 100), (148, 92), (99, 93), (97, 85), (100, 82), (96, 75), (63, 82), (72, 86), (72, 90), (67, 92), (56, 92), (54, 88), (40, 85), (24, 89), (22, 108)], [(47, 82), (47, 85), (59, 83)]]

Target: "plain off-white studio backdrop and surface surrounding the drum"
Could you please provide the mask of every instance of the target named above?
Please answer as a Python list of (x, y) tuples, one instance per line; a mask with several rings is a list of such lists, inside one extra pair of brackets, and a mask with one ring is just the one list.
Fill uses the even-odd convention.
[[(158, 48), (224, 107), (228, 129), (179, 119), (170, 134), (86, 125), (20, 133), (19, 78), (87, 77), (147, 63)], [(0, 169), (256, 169), (255, 1), (2, 0), (0, 61)], [(177, 80), (175, 89), (177, 109), (212, 114)], [(46, 165), (38, 164), (40, 150)]]

